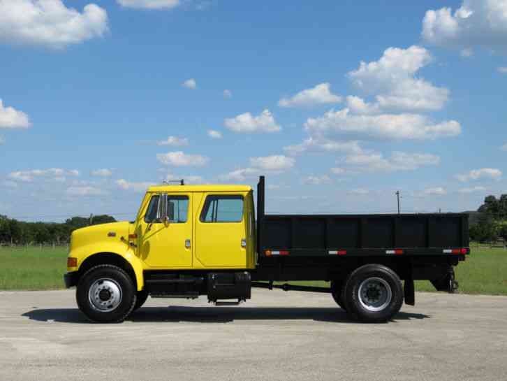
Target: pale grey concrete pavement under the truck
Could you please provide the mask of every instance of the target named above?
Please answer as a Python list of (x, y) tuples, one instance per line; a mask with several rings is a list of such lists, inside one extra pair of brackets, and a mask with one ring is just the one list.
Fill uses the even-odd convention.
[(90, 324), (74, 290), (0, 292), (0, 381), (17, 380), (507, 380), (507, 297), (417, 294), (359, 324), (328, 294), (254, 289)]

